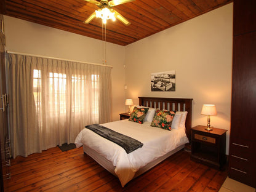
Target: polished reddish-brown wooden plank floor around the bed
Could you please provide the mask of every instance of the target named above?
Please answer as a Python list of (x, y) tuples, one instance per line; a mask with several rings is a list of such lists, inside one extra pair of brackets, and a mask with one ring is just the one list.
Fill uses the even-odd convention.
[(218, 191), (227, 171), (190, 160), (178, 151), (122, 188), (82, 148), (62, 152), (58, 147), (11, 161), (7, 191)]

